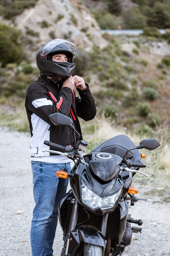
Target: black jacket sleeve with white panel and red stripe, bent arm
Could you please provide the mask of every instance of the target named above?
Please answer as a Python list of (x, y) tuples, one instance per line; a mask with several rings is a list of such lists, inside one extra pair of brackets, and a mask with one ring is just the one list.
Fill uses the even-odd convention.
[(72, 97), (70, 88), (62, 88), (57, 99), (54, 99), (40, 84), (33, 83), (27, 90), (25, 106), (30, 115), (35, 114), (52, 125), (49, 115), (56, 112), (68, 115)]

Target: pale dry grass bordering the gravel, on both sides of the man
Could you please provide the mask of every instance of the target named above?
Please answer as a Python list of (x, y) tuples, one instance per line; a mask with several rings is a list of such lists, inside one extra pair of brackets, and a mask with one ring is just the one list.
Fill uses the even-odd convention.
[[(13, 108), (9, 104), (1, 106), (0, 126), (9, 126), (11, 129), (18, 131), (29, 131), (24, 103), (20, 103), (18, 108)], [(129, 136), (135, 145), (139, 145), (141, 140), (148, 138), (146, 134), (137, 135), (124, 127), (116, 126), (104, 117), (100, 119), (96, 117), (89, 122), (81, 121), (81, 126), (84, 139), (88, 141), (86, 153), (89, 153), (106, 139), (120, 134)], [(154, 196), (155, 201), (169, 202), (170, 196), (167, 191), (170, 191), (170, 127), (168, 122), (158, 127), (153, 133), (153, 137), (157, 138), (161, 146), (152, 151), (140, 150), (141, 153), (146, 155), (143, 162), (147, 165), (141, 171), (148, 173), (149, 177), (146, 178), (143, 175), (136, 174), (134, 182), (141, 186), (142, 191), (145, 188), (147, 198), (148, 196)]]

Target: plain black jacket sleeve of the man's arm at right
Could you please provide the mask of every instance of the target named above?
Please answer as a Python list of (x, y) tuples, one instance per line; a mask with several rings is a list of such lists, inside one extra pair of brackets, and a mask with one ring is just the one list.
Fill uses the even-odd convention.
[(86, 88), (83, 91), (77, 88), (81, 98), (75, 96), (75, 105), (77, 116), (84, 119), (84, 121), (89, 121), (96, 115), (96, 106), (88, 84), (86, 84)]

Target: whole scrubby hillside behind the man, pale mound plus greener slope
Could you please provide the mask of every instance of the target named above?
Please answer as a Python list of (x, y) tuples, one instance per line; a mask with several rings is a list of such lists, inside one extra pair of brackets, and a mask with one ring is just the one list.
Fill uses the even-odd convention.
[[(125, 1), (124, 8), (128, 4), (132, 3)], [(170, 58), (170, 45), (161, 36), (101, 34), (91, 9), (105, 7), (102, 1), (39, 0), (35, 7), (10, 20), (0, 16), (0, 22), (21, 31), (23, 61), (31, 62), (33, 67), (38, 50), (47, 41), (53, 38), (73, 41), (79, 50), (75, 58), (77, 74), (89, 83), (98, 115), (103, 111), (113, 123), (126, 128), (145, 124), (153, 128), (164, 121), (170, 123), (170, 67), (163, 63), (164, 58)], [(6, 97), (12, 93), (15, 100), (21, 94), (24, 98), (31, 79), (38, 76), (37, 72), (26, 76), (22, 67), (13, 71), (9, 67), (1, 73), (5, 75), (0, 85), (1, 104), (11, 102)], [(145, 95), (146, 91), (150, 94)], [(139, 115), (139, 103), (148, 104), (144, 107), (149, 107), (149, 112)]]

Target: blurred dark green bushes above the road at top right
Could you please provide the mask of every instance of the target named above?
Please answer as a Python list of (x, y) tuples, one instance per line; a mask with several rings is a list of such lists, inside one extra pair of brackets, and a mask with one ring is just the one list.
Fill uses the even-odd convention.
[[(93, 1), (91, 1), (93, 2)], [(95, 2), (95, 1), (94, 1)], [(106, 0), (105, 9), (93, 9), (102, 29), (157, 29), (170, 28), (170, 0)]]

